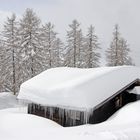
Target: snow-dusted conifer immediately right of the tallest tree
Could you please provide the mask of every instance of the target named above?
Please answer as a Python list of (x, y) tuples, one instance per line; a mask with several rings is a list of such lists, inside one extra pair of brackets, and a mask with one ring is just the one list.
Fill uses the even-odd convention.
[(54, 25), (52, 23), (46, 23), (42, 28), (42, 46), (44, 47), (44, 66), (45, 69), (57, 66), (57, 58), (59, 51), (59, 44), (57, 33), (54, 31)]

